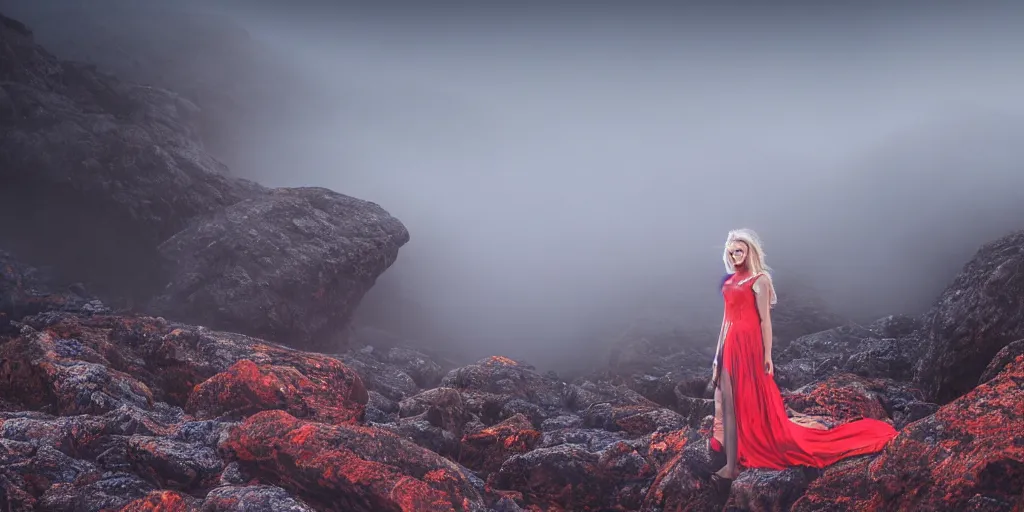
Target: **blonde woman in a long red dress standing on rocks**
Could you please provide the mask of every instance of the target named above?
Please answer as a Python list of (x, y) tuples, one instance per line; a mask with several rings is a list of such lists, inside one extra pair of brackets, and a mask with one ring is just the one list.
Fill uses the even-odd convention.
[(729, 231), (723, 259), (729, 273), (722, 283), (725, 315), (713, 366), (716, 401), (721, 396), (716, 420), (721, 418), (722, 428), (716, 428), (720, 439), (712, 446), (725, 445), (726, 463), (712, 475), (716, 483), (728, 484), (740, 466), (822, 468), (882, 450), (896, 436), (896, 429), (884, 421), (863, 419), (824, 429), (786, 416), (771, 357), (775, 288), (757, 233)]

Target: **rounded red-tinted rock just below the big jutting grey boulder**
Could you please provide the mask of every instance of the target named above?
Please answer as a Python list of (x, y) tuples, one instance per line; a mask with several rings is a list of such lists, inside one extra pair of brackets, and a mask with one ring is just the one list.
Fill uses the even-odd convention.
[(338, 359), (325, 356), (299, 368), (242, 359), (196, 386), (185, 411), (213, 419), (280, 409), (296, 418), (354, 423), (368, 398), (359, 376)]

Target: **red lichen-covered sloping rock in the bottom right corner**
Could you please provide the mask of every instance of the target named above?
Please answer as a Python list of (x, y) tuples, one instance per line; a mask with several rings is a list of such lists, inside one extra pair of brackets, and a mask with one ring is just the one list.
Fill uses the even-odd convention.
[(1010, 510), (1022, 501), (1024, 355), (908, 425), (872, 462), (829, 468), (794, 510)]

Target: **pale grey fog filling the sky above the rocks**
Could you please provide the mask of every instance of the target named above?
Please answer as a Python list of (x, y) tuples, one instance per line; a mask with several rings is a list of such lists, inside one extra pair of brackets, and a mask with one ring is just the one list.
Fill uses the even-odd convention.
[[(61, 54), (72, 4), (0, 9)], [(394, 322), (466, 357), (544, 367), (638, 317), (714, 327), (734, 227), (765, 240), (779, 307), (799, 280), (858, 319), (920, 313), (1024, 228), (1021, 7), (517, 5), (161, 8), (272, 56), (246, 80), (281, 96), (228, 125), (232, 172), (400, 218), (412, 241), (367, 302), (418, 303), (429, 328)]]

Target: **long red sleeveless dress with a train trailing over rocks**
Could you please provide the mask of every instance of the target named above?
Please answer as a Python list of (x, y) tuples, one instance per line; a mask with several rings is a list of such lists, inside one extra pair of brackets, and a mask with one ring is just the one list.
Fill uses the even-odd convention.
[(722, 285), (727, 331), (720, 368), (732, 383), (736, 418), (736, 460), (746, 468), (822, 468), (841, 459), (882, 450), (892, 425), (862, 419), (821, 429), (794, 423), (785, 414), (775, 380), (764, 371), (761, 315), (754, 284), (761, 279), (732, 275)]

